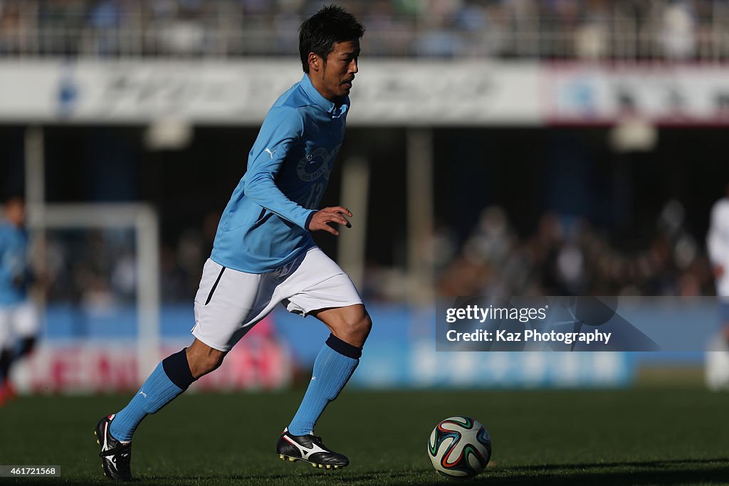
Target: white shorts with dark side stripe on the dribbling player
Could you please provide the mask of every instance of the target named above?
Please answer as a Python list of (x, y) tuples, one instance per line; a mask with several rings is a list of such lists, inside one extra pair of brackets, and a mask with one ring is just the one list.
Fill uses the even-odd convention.
[(245, 273), (208, 259), (195, 296), (192, 335), (211, 348), (229, 351), (278, 303), (306, 316), (362, 304), (362, 298), (347, 274), (318, 247), (268, 273)]

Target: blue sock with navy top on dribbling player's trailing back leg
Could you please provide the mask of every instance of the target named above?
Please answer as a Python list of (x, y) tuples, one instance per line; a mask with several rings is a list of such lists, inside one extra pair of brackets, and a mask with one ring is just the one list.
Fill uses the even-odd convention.
[(184, 349), (164, 358), (144, 385), (141, 385), (134, 398), (114, 417), (109, 432), (114, 439), (130, 441), (142, 419), (171, 402), (187, 390), (193, 381), (195, 379), (190, 372)]

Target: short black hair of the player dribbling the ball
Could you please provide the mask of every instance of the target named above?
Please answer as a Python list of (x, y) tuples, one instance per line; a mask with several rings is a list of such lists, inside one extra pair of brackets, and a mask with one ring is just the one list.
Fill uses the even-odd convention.
[(354, 41), (364, 35), (364, 26), (354, 15), (338, 5), (321, 7), (319, 12), (305, 20), (299, 27), (299, 54), (301, 67), (309, 72), (309, 52), (326, 62), (337, 42)]

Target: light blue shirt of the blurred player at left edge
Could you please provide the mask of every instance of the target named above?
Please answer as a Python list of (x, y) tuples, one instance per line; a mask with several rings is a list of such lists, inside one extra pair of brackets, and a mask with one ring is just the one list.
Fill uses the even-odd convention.
[(0, 305), (15, 305), (28, 297), (28, 235), (0, 220)]

